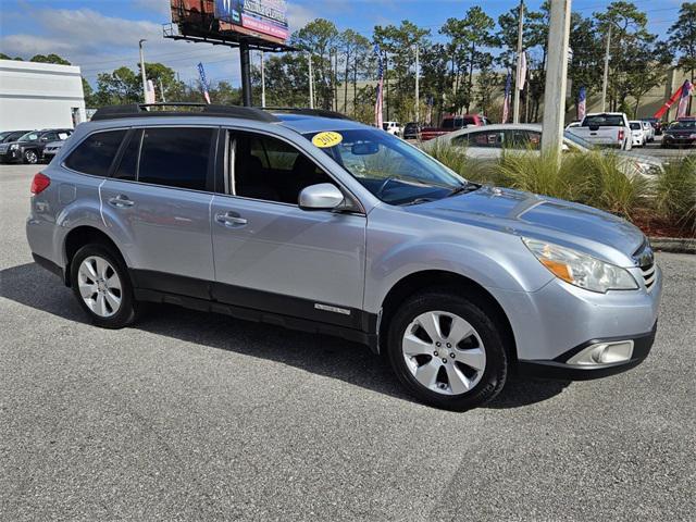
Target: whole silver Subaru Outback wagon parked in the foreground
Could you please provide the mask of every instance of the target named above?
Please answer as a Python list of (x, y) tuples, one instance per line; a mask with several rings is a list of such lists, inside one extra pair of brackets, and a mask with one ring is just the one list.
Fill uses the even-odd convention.
[(513, 371), (600, 377), (650, 350), (660, 269), (614, 215), (334, 113), (156, 109), (99, 110), (32, 185), (34, 258), (98, 326), (150, 301), (337, 335), (452, 410)]

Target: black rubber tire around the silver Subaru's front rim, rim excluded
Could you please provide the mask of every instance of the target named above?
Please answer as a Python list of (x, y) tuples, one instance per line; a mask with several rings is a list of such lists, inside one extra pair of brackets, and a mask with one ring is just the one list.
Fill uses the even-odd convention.
[[(442, 311), (459, 315), (476, 331), (484, 345), (486, 365), (480, 382), (460, 395), (444, 395), (431, 390), (413, 376), (402, 352), (406, 328), (420, 314)], [(388, 325), (387, 356), (397, 377), (421, 401), (452, 411), (467, 411), (482, 406), (500, 393), (509, 369), (509, 357), (496, 314), (480, 299), (465, 299), (446, 289), (432, 289), (407, 300)]]

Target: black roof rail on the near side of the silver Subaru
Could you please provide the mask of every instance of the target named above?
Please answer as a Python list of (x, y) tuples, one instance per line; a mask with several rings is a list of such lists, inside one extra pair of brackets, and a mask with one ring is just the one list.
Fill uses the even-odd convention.
[[(165, 108), (183, 108), (184, 110), (165, 110)], [(150, 110), (156, 109), (156, 110)], [(215, 116), (238, 117), (257, 122), (275, 123), (278, 119), (260, 109), (237, 105), (211, 105), (208, 103), (172, 102), (172, 103), (130, 103), (126, 105), (108, 105), (98, 109), (91, 121), (115, 120), (120, 117), (158, 117), (158, 116)]]

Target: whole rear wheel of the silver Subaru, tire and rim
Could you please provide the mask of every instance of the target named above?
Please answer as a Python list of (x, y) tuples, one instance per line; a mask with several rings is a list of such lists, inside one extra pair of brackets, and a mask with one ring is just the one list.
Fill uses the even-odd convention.
[(137, 303), (121, 256), (105, 245), (82, 247), (71, 261), (73, 293), (97, 326), (121, 328), (136, 318)]

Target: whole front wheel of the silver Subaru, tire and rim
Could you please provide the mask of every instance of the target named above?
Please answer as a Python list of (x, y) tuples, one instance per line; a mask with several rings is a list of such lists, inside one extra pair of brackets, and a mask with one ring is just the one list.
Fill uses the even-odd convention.
[(495, 313), (478, 300), (439, 290), (414, 296), (389, 325), (389, 361), (422, 401), (464, 411), (505, 385), (508, 356)]

